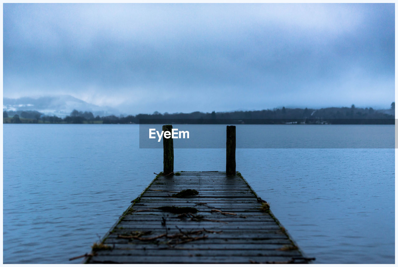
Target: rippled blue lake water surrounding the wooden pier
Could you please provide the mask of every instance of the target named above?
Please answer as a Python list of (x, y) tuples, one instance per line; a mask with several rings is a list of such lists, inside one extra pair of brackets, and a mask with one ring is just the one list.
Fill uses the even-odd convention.
[[(278, 136), (307, 126), (238, 125), (236, 131)], [(322, 127), (345, 127), (343, 134), (359, 128), (365, 137), (358, 139), (379, 132), (384, 144), (392, 143), (242, 148), (236, 150), (236, 170), (315, 263), (394, 263), (394, 125), (300, 131), (316, 136), (325, 132)], [(160, 149), (139, 148), (138, 125), (3, 125), (4, 263), (80, 263), (68, 258), (90, 252), (153, 172), (162, 171), (162, 157)], [(225, 150), (175, 149), (174, 170), (223, 171)]]

